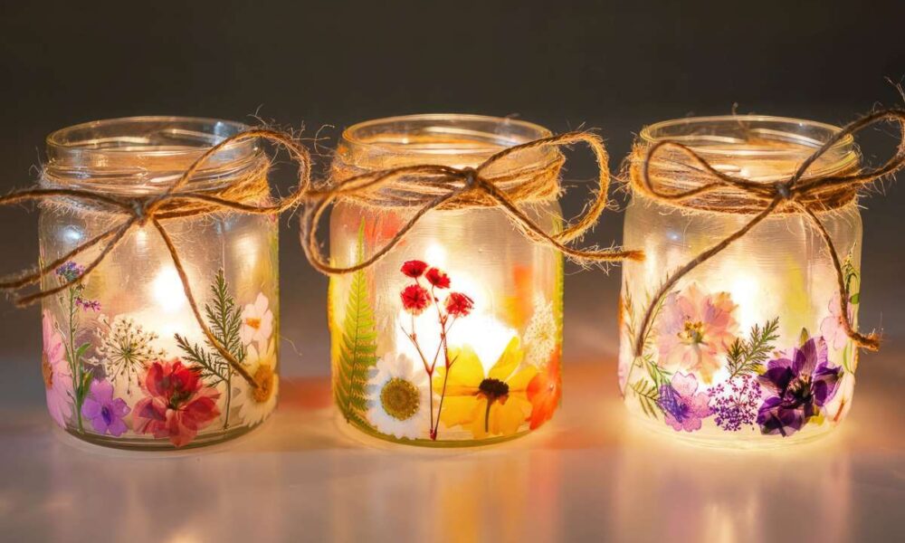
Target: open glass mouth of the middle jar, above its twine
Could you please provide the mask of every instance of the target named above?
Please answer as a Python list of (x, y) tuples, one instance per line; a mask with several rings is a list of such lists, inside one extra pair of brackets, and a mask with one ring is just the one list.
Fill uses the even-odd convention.
[(351, 160), (346, 162), (366, 168), (389, 157), (394, 158), (394, 166), (474, 167), (505, 148), (551, 135), (540, 125), (518, 119), (456, 113), (405, 115), (367, 120), (345, 129), (340, 154), (348, 153)]

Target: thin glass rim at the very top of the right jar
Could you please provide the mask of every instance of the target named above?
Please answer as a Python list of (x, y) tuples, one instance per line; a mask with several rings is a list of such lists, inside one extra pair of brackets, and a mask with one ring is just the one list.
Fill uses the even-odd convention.
[[(765, 125), (776, 124), (776, 125), (790, 125), (790, 126), (798, 126), (806, 129), (816, 129), (824, 131), (826, 138), (823, 140), (816, 138), (809, 138), (804, 134), (795, 134), (793, 132), (788, 131), (780, 131), (777, 129), (761, 129), (759, 130), (761, 133), (772, 135), (772, 136), (784, 136), (788, 139), (794, 139), (795, 143), (802, 144), (803, 147), (811, 147), (811, 148), (819, 148), (821, 145), (825, 143), (830, 137), (834, 136), (842, 129), (832, 124), (809, 120), (809, 119), (796, 119), (794, 117), (780, 117), (774, 115), (714, 115), (714, 116), (703, 116), (703, 117), (686, 117), (681, 119), (667, 119), (655, 122), (651, 125), (644, 127), (641, 130), (640, 138), (643, 140), (645, 144), (653, 145), (664, 139), (670, 139), (673, 141), (679, 141), (680, 143), (686, 143), (689, 147), (694, 148), (696, 151), (712, 154), (712, 155), (745, 155), (745, 156), (755, 156), (755, 157), (778, 157), (788, 154), (788, 150), (783, 149), (766, 149), (766, 148), (757, 148), (757, 149), (745, 149), (742, 146), (738, 146), (738, 148), (732, 147), (732, 144), (743, 143), (743, 140), (739, 138), (730, 138), (730, 137), (720, 137), (715, 134), (704, 135), (704, 134), (689, 134), (685, 136), (677, 136), (670, 134), (662, 134), (656, 135), (657, 132), (668, 132), (669, 129), (681, 127), (681, 126), (719, 126), (720, 124), (729, 124), (729, 123), (763, 123)], [(691, 141), (691, 138), (700, 139), (707, 136), (708, 140), (712, 143), (725, 143), (729, 144), (727, 148), (710, 148), (710, 147), (696, 147), (693, 143), (688, 143)], [(830, 150), (848, 152), (853, 151), (854, 147), (854, 138), (851, 134), (844, 136), (839, 139), (839, 141), (835, 142), (833, 147)]]

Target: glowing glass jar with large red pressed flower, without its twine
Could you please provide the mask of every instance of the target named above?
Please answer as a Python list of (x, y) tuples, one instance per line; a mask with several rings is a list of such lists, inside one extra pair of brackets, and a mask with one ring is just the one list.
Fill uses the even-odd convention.
[[(41, 186), (120, 198), (165, 191), (205, 151), (247, 127), (215, 119), (138, 117), (81, 124), (47, 138)], [(266, 204), (259, 143), (223, 148), (181, 189)], [(185, 209), (183, 209), (185, 211)], [(42, 205), (42, 262), (54, 262), (126, 221), (87, 201)], [(52, 418), (91, 443), (167, 449), (216, 443), (261, 424), (279, 376), (278, 224), (268, 215), (162, 217), (207, 326), (257, 383), (206, 340), (172, 257), (152, 224), (133, 226), (80, 284), (43, 300), (43, 377)], [(100, 254), (77, 254), (43, 279), (51, 289)]]

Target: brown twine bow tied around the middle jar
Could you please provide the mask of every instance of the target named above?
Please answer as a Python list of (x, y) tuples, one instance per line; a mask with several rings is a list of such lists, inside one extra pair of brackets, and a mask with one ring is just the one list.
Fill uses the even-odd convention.
[[(490, 174), (488, 170), (513, 154), (538, 148), (559, 149), (576, 143), (585, 143), (594, 153), (598, 172), (596, 194), (588, 202), (586, 212), (574, 223), (567, 224), (558, 233), (548, 233), (529, 218), (519, 205), (550, 200), (559, 195), (559, 170), (565, 158), (557, 153), (556, 160), (540, 166), (507, 170), (500, 174)], [(334, 173), (328, 186), (309, 192), (314, 204), (306, 207), (305, 214), (301, 217), (302, 247), (311, 265), (321, 273), (350, 273), (363, 270), (386, 256), (397, 243), (405, 239), (405, 235), (424, 214), (434, 209), (494, 206), (499, 207), (526, 238), (562, 252), (575, 262), (640, 261), (643, 259), (643, 252), (640, 251), (575, 248), (568, 244), (593, 228), (608, 205), (608, 161), (609, 156), (599, 136), (590, 132), (567, 132), (503, 149), (478, 167), (422, 164), (370, 171), (340, 179)], [(366, 260), (348, 267), (338, 267), (333, 266), (321, 252), (318, 225), (329, 205), (343, 198), (364, 205), (417, 206), (417, 209), (395, 235)]]

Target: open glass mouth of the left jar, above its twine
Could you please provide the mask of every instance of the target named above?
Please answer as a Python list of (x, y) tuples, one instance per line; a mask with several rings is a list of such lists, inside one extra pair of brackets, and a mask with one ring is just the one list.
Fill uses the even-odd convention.
[[(173, 183), (206, 151), (249, 129), (241, 122), (193, 117), (95, 120), (46, 138), (43, 183), (125, 194), (153, 194)], [(190, 180), (192, 189), (229, 184), (260, 166), (260, 143), (247, 139), (209, 157)]]

